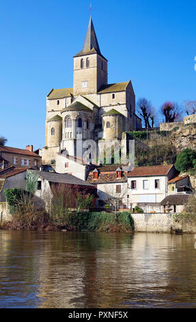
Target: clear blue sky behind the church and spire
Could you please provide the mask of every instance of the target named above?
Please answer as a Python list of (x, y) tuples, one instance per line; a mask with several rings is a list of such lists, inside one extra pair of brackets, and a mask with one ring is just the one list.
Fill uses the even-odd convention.
[[(196, 2), (92, 0), (109, 83), (132, 79), (136, 99), (158, 110), (196, 99)], [(72, 56), (83, 46), (90, 1), (1, 1), (0, 136), (8, 146), (44, 147), (46, 95), (72, 87)]]

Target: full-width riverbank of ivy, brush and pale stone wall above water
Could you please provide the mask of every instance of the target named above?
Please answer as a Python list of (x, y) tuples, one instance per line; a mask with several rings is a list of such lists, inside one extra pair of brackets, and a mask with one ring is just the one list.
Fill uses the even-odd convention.
[(31, 216), (12, 215), (12, 220), (2, 223), (1, 229), (196, 234), (196, 215), (69, 212), (57, 220), (46, 212), (37, 212)]

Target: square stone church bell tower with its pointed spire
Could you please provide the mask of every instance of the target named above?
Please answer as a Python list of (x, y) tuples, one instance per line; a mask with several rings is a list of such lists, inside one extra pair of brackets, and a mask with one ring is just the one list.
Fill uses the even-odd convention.
[(98, 92), (107, 83), (107, 59), (100, 52), (90, 16), (83, 49), (74, 55), (73, 94), (87, 95)]

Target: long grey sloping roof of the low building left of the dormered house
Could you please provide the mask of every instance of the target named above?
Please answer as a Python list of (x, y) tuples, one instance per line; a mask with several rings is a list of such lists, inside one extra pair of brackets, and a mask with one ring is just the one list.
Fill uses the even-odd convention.
[(69, 175), (68, 173), (53, 173), (53, 172), (44, 172), (44, 171), (34, 171), (39, 177), (46, 179), (48, 182), (56, 182), (58, 184), (76, 184), (78, 186), (91, 186), (88, 182), (85, 182), (74, 175)]

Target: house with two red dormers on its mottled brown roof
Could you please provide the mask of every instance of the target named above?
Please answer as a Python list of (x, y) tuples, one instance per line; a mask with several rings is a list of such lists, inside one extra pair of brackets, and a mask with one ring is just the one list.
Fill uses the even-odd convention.
[(127, 173), (128, 167), (121, 164), (97, 166), (93, 171), (89, 171), (87, 182), (97, 188), (98, 208), (103, 208), (110, 199), (117, 199), (119, 209), (129, 208)]

